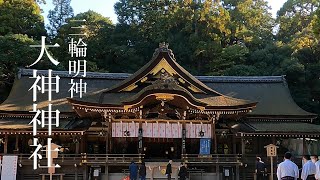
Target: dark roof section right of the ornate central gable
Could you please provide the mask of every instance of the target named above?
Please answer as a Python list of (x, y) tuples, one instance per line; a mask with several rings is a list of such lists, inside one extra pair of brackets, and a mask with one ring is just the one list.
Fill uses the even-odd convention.
[(317, 116), (294, 102), (284, 76), (207, 76), (203, 82), (227, 96), (258, 102), (257, 107), (249, 113), (250, 117)]

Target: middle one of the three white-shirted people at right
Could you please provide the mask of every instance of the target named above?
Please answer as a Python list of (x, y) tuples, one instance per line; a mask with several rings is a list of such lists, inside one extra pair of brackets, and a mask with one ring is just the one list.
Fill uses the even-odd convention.
[(310, 155), (304, 155), (302, 160), (304, 161), (304, 165), (302, 167), (301, 179), (315, 180), (316, 165), (311, 161)]

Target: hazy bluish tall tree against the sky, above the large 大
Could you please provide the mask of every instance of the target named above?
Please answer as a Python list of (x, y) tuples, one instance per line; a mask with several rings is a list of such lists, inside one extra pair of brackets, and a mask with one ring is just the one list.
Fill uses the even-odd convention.
[(73, 16), (73, 9), (70, 6), (71, 0), (53, 0), (52, 3), (55, 7), (49, 11), (49, 26), (47, 28), (49, 35), (53, 38), (67, 19)]

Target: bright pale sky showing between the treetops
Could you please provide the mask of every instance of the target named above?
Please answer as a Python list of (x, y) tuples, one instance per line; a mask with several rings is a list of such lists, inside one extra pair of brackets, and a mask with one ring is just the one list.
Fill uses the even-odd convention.
[[(46, 5), (41, 5), (41, 8), (44, 10), (43, 16), (47, 17), (48, 11), (53, 9), (52, 0), (46, 0)], [(78, 14), (81, 12), (86, 12), (88, 10), (93, 10), (97, 13), (102, 14), (105, 17), (109, 17), (113, 23), (117, 22), (117, 16), (114, 13), (113, 5), (118, 0), (72, 0), (71, 6), (73, 8), (74, 14)], [(269, 2), (269, 6), (271, 6), (272, 16), (275, 18), (277, 11), (282, 7), (283, 3), (286, 0), (267, 0)], [(45, 23), (48, 21), (45, 18)]]

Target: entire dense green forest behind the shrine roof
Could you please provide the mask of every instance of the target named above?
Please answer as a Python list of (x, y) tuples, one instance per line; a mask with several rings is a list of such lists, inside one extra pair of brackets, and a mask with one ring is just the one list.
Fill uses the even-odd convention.
[[(45, 0), (0, 0), (1, 100), (18, 67), (39, 56), (41, 36), (60, 44), (39, 69), (66, 70), (70, 33), (86, 33), (89, 71), (133, 73), (168, 42), (179, 63), (193, 75), (286, 75), (291, 94), (305, 110), (320, 114), (320, 1), (287, 0), (272, 18), (265, 0), (119, 0), (118, 22), (88, 11), (73, 14), (71, 0), (53, 0), (44, 25)], [(72, 29), (71, 19), (86, 19)]]

